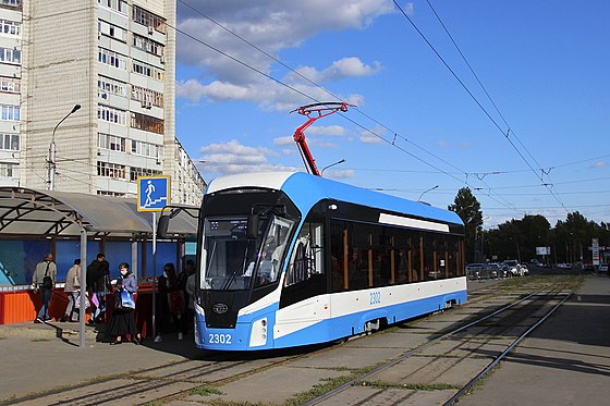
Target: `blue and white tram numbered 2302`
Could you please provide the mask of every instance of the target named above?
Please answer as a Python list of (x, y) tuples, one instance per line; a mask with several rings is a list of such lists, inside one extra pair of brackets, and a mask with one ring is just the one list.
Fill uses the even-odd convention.
[(212, 181), (198, 234), (199, 348), (330, 342), (466, 300), (456, 213), (307, 173)]

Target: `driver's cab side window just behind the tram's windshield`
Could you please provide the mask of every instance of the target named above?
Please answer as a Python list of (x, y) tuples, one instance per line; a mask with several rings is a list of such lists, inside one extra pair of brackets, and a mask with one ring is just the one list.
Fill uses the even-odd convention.
[(322, 230), (321, 223), (310, 222), (301, 229), (286, 273), (286, 286), (324, 275)]

